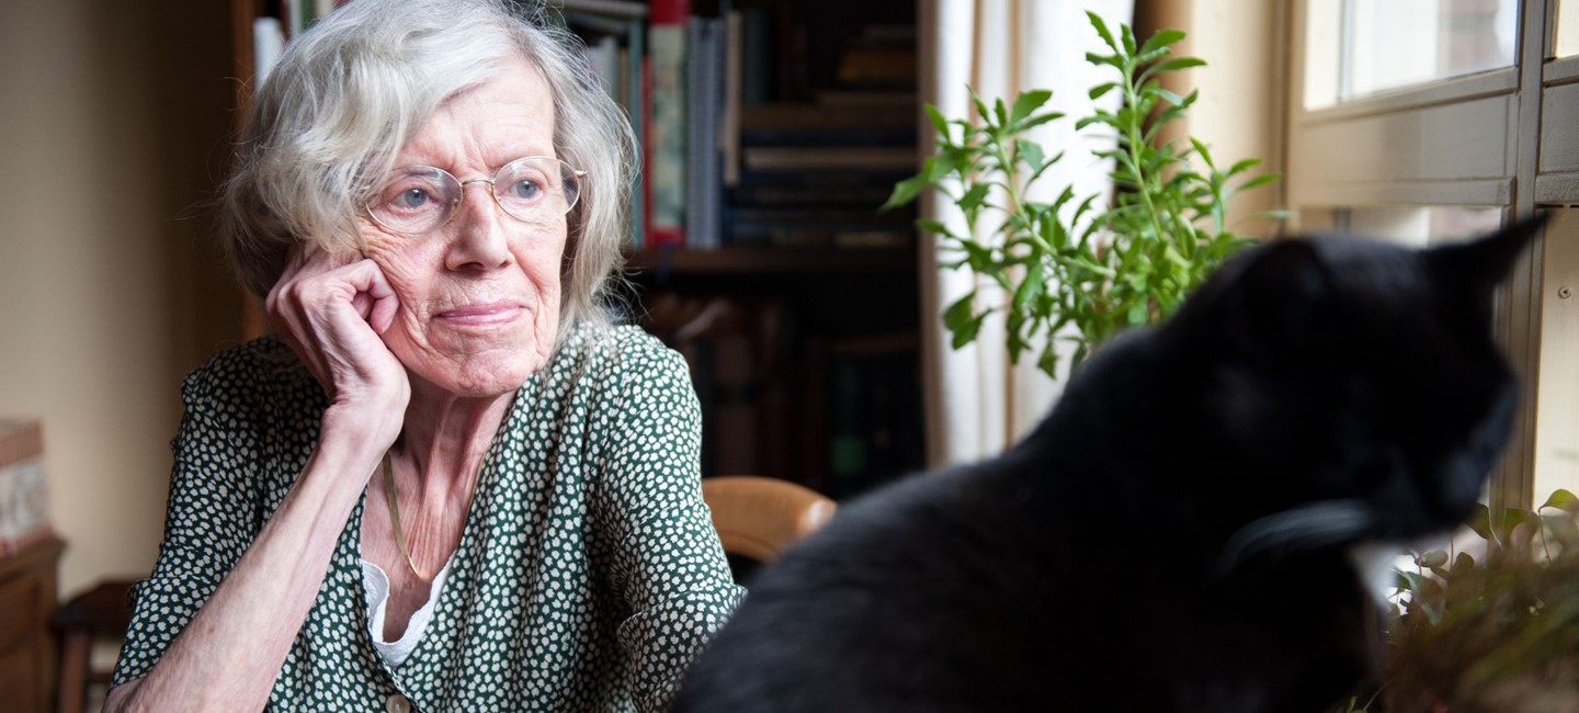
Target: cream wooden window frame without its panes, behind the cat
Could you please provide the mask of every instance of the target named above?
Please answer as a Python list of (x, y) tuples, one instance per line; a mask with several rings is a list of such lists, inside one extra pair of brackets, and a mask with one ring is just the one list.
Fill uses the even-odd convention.
[[(1284, 2), (1288, 3), (1284, 175), (1296, 228), (1323, 224), (1345, 209), (1497, 207), (1506, 223), (1536, 209), (1579, 206), (1579, 57), (1552, 58), (1557, 6), (1563, 0), (1519, 3), (1513, 66), (1317, 109), (1306, 108), (1307, 17), (1314, 0)], [(1579, 11), (1579, 0), (1566, 2), (1574, 3), (1570, 11)], [(1331, 28), (1325, 30), (1331, 40)], [(1341, 35), (1337, 40), (1342, 43)], [(1331, 84), (1330, 77), (1325, 81)], [(1465, 134), (1495, 139), (1467, 142)], [(1345, 150), (1331, 150), (1334, 145)], [(1546, 422), (1536, 419), (1543, 397), (1579, 392), (1579, 376), (1565, 376), (1560, 359), (1573, 356), (1573, 345), (1579, 345), (1579, 324), (1568, 326), (1579, 319), (1554, 323), (1552, 315), (1544, 315), (1543, 329), (1543, 307), (1547, 307), (1543, 300), (1558, 299), (1555, 286), (1547, 294), (1543, 285), (1579, 283), (1579, 261), (1568, 247), (1576, 242), (1579, 220), (1565, 215), (1547, 226), (1514, 266), (1497, 299), (1497, 337), (1524, 390), (1513, 438), (1489, 492), (1498, 512), (1535, 504), (1540, 447), (1549, 451), (1554, 438), (1566, 439), (1570, 449), (1579, 441), (1573, 436), (1579, 433), (1579, 409)], [(1538, 446), (1543, 439), (1546, 446)]]

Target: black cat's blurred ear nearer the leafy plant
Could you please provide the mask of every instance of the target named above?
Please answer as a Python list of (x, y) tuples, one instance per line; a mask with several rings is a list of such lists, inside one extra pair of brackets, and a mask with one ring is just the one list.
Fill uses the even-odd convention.
[(1314, 337), (1333, 289), (1326, 264), (1309, 240), (1273, 240), (1246, 256), (1225, 315), (1233, 341), (1287, 345)]

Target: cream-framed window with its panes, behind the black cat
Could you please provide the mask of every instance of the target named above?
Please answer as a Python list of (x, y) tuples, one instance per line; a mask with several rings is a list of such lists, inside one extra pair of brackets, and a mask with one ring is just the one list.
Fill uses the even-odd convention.
[(1290, 6), (1285, 190), (1303, 229), (1432, 245), (1558, 210), (1498, 305), (1525, 400), (1492, 504), (1579, 490), (1579, 215), (1565, 210), (1579, 206), (1579, 0)]

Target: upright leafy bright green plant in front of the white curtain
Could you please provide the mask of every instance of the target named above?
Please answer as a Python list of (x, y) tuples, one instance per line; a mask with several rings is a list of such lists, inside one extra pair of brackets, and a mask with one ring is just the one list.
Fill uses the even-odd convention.
[[(1042, 111), (1052, 92), (1031, 90), (1012, 104), (987, 106), (971, 92), (979, 123), (949, 120), (935, 106), (927, 115), (938, 133), (936, 155), (922, 171), (894, 187), (884, 207), (936, 191), (965, 215), (965, 231), (936, 220), (917, 224), (943, 237), (954, 253), (944, 264), (968, 267), (996, 283), (1007, 300), (985, 304), (977, 291), (943, 311), (954, 348), (976, 340), (993, 311), (1003, 311), (1012, 360), (1036, 349), (1037, 367), (1058, 368), (1055, 338), (1075, 343), (1072, 368), (1121, 329), (1172, 315), (1228, 255), (1251, 240), (1225, 224), (1233, 194), (1270, 183), (1276, 174), (1251, 177), (1260, 160), (1219, 168), (1195, 138), (1170, 139), (1165, 128), (1184, 117), (1198, 93), (1180, 96), (1162, 87), (1170, 71), (1202, 66), (1194, 57), (1172, 57), (1184, 38), (1161, 30), (1137, 44), (1127, 25), (1120, 35), (1094, 13), (1091, 25), (1112, 54), (1086, 54), (1110, 66), (1115, 81), (1091, 87), (1091, 98), (1120, 92), (1118, 111), (1096, 111), (1075, 128), (1099, 126), (1116, 141), (1094, 144), (1093, 155), (1112, 161), (1116, 193), (1077, 196), (1067, 187), (1052, 202), (1034, 201), (1031, 187), (1063, 153), (1050, 155), (1023, 134), (1063, 119)], [(984, 229), (990, 229), (987, 237)]]

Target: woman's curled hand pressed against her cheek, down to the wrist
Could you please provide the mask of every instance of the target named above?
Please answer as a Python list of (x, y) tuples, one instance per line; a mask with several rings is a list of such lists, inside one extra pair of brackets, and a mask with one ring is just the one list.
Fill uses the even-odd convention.
[(399, 302), (376, 262), (294, 250), (268, 291), (268, 324), (328, 394), (330, 413), (374, 427), (363, 436), (393, 443), (411, 400), (406, 367), (379, 338)]

